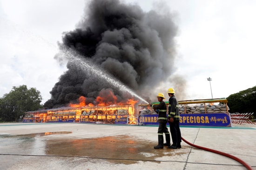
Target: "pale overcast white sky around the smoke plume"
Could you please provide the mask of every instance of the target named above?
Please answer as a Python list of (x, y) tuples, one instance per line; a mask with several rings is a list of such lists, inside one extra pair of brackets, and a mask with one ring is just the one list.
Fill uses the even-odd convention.
[[(148, 12), (153, 0), (137, 3)], [(72, 31), (86, 0), (0, 0), (0, 97), (13, 86), (38, 89), (42, 104), (66, 70), (54, 55)], [(168, 0), (179, 27), (174, 75), (187, 81), (180, 100), (228, 97), (256, 86), (256, 0)], [(163, 84), (164, 89), (176, 84)], [(178, 89), (178, 88), (177, 88)], [(163, 91), (167, 95), (166, 91)], [(179, 91), (176, 90), (176, 96)]]

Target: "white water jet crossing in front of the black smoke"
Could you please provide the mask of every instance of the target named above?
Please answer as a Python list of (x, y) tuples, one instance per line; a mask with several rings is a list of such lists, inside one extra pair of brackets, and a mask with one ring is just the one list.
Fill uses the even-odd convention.
[(111, 83), (116, 88), (118, 88), (119, 90), (126, 91), (129, 94), (133, 95), (134, 97), (140, 99), (141, 101), (148, 103), (148, 101), (145, 101), (143, 98), (141, 98), (138, 94), (136, 94), (130, 88), (126, 87), (119, 80), (115, 79), (115, 77), (107, 74), (106, 72), (101, 70), (100, 67), (97, 68), (94, 63), (92, 63), (86, 58), (81, 57), (81, 55), (77, 54), (77, 52), (75, 52), (74, 50), (62, 48), (61, 51), (65, 54), (65, 56), (68, 58), (70, 62), (75, 63), (84, 71), (92, 72), (94, 76), (98, 76), (99, 78), (106, 80), (107, 82)]

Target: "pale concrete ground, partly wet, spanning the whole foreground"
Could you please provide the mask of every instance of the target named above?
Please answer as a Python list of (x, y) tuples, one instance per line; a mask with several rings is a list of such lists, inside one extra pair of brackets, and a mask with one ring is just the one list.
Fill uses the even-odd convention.
[[(192, 147), (154, 149), (158, 126), (1, 123), (1, 170), (246, 170)], [(256, 125), (181, 127), (182, 137), (235, 156), (256, 170)]]

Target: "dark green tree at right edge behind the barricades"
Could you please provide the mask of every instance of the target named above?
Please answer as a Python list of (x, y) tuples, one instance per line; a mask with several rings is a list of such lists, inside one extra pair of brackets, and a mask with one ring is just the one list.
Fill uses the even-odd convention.
[(230, 113), (254, 113), (256, 117), (256, 86), (227, 97)]

